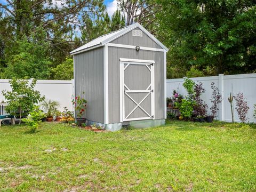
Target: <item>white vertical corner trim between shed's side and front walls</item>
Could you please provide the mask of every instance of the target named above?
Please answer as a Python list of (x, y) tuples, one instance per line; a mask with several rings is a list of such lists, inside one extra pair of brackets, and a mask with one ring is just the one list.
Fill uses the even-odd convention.
[(103, 63), (104, 63), (104, 123), (109, 123), (108, 108), (108, 46), (103, 47)]

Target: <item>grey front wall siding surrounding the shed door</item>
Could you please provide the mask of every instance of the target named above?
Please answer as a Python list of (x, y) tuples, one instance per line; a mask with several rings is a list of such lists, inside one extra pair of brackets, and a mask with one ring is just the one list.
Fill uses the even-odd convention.
[(108, 47), (109, 123), (120, 122), (119, 58), (155, 61), (155, 119), (164, 118), (164, 53)]

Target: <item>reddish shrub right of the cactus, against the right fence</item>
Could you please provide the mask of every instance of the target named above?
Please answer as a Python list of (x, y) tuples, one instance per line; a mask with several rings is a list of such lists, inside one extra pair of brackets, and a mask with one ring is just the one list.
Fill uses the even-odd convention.
[(234, 99), (236, 101), (236, 111), (239, 119), (244, 123), (247, 121), (246, 116), (249, 110), (248, 103), (245, 101), (246, 98), (244, 98), (243, 93), (237, 93), (236, 96), (234, 96)]

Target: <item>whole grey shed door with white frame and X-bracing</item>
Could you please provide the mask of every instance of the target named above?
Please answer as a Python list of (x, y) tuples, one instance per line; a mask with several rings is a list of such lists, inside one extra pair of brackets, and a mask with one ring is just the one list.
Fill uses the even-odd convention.
[(154, 61), (120, 59), (121, 122), (154, 119)]

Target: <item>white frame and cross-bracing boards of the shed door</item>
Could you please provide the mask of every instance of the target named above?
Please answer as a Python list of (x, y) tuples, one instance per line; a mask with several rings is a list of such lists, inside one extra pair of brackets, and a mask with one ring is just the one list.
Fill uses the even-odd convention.
[[(139, 59), (124, 59), (124, 58), (120, 58), (120, 62), (119, 62), (119, 74), (120, 74), (120, 122), (124, 122), (124, 121), (136, 121), (136, 120), (143, 120), (143, 119), (155, 119), (155, 74), (154, 74), (154, 63), (155, 61), (153, 60), (139, 60)], [(124, 67), (124, 64), (127, 64)], [(124, 84), (124, 70), (126, 69), (127, 66), (129, 65), (145, 65), (148, 67), (149, 64), (152, 64), (150, 70), (150, 74), (151, 74), (151, 82), (150, 85), (147, 87), (146, 90), (130, 90), (125, 84)], [(128, 89), (124, 92), (124, 86)], [(149, 87), (151, 87), (150, 90)], [(152, 91), (153, 90), (153, 91)], [(140, 118), (126, 118), (125, 117), (125, 106), (124, 106), (124, 95), (127, 93), (131, 93), (131, 92), (135, 92), (135, 93), (148, 93), (146, 97), (148, 97), (148, 95), (151, 93), (151, 117), (140, 117)], [(127, 95), (130, 98), (130, 95)], [(132, 112), (140, 107), (141, 102), (143, 102), (143, 100), (146, 99), (143, 98), (142, 101), (140, 101), (139, 103), (135, 102), (133, 99), (132, 101), (135, 102), (135, 104), (137, 105)], [(140, 107), (141, 108), (141, 107)], [(145, 111), (144, 109), (142, 109), (143, 111)], [(131, 112), (131, 113), (132, 113)], [(131, 115), (131, 113), (129, 115), (127, 115), (127, 117), (129, 117)], [(147, 111), (145, 111), (145, 113), (147, 115), (149, 115), (147, 113)]]

